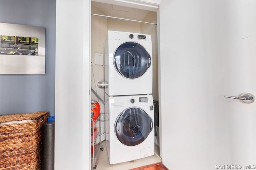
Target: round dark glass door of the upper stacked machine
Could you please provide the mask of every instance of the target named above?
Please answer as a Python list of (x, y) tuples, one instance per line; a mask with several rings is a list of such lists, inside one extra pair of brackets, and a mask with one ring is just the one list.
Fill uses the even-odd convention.
[(136, 79), (142, 76), (150, 65), (151, 57), (139, 43), (123, 43), (114, 53), (114, 66), (125, 78)]

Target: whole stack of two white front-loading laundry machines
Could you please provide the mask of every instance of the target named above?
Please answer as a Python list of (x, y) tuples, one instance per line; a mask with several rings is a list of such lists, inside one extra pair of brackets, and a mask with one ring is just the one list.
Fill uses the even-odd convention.
[(110, 164), (154, 155), (151, 36), (108, 31), (106, 148)]

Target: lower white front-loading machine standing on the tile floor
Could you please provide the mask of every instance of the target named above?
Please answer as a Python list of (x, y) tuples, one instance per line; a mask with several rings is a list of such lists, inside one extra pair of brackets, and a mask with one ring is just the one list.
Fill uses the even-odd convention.
[(109, 97), (106, 100), (106, 148), (110, 164), (154, 155), (152, 95)]

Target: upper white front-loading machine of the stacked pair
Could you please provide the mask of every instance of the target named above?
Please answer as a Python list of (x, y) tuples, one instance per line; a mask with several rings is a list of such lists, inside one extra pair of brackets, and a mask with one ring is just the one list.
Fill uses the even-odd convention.
[(108, 96), (152, 93), (151, 36), (108, 31), (105, 45)]

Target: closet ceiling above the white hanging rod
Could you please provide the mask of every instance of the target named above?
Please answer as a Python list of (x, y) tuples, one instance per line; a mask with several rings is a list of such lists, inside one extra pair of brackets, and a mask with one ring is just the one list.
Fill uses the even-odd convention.
[[(130, 20), (142, 21), (149, 11), (140, 10), (136, 8), (129, 8), (125, 6), (118, 6), (113, 4), (104, 4), (101, 2), (92, 1), (92, 5), (101, 10), (106, 16), (114, 16), (118, 18), (126, 18)], [(92, 11), (92, 14), (97, 14)]]

